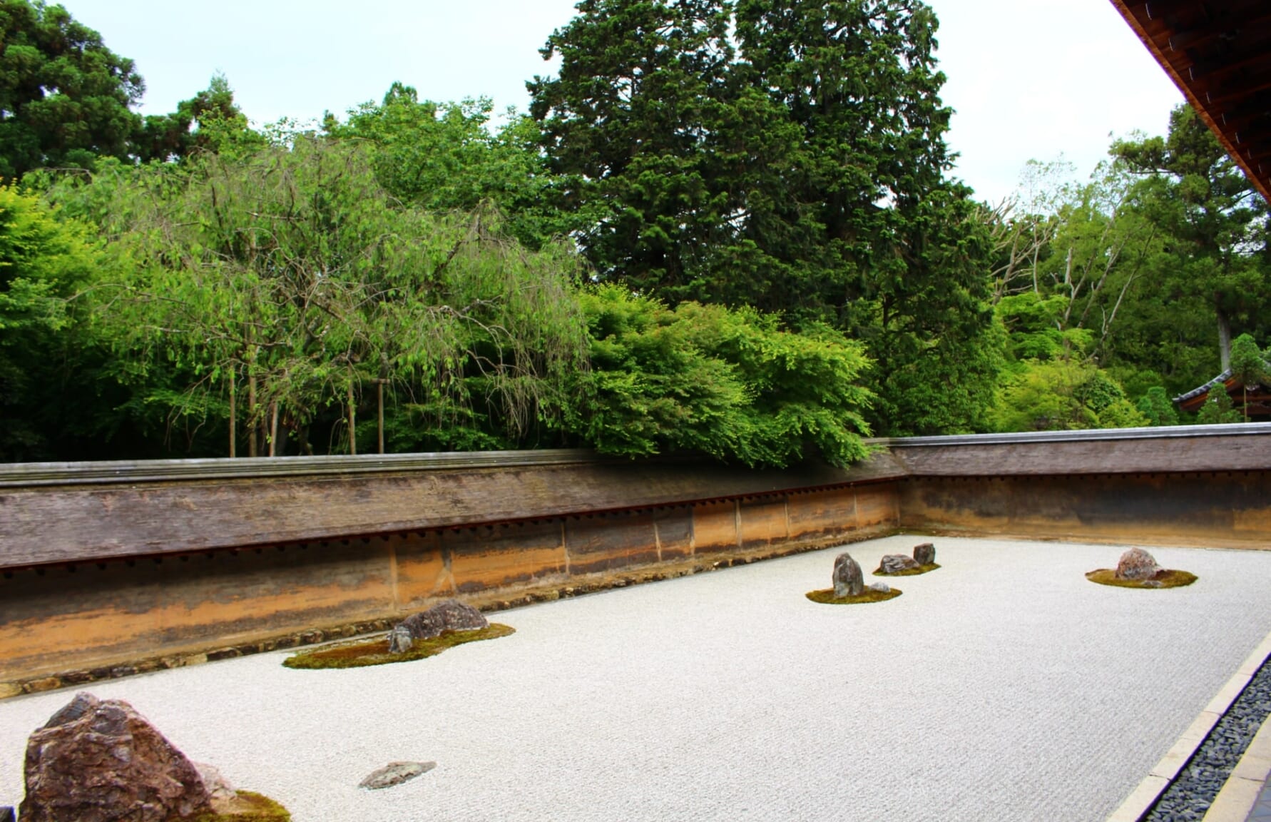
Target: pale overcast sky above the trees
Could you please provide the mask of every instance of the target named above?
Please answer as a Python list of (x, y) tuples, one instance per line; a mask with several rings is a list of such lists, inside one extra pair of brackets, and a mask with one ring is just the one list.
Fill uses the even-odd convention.
[[(142, 111), (172, 111), (222, 71), (258, 122), (311, 120), (379, 99), (389, 84), (436, 101), (527, 106), (550, 74), (538, 50), (576, 0), (61, 0), (146, 79)], [(1108, 0), (929, 0), (941, 19), (957, 176), (1009, 195), (1030, 158), (1080, 176), (1110, 134), (1163, 134), (1182, 95)]]

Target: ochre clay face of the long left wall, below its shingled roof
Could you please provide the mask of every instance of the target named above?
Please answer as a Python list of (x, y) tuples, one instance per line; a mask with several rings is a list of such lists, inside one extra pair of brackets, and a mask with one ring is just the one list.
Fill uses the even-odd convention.
[(897, 514), (896, 486), (867, 484), (11, 568), (0, 576), (0, 693), (370, 630), (442, 597), (497, 608), (709, 570), (891, 532)]

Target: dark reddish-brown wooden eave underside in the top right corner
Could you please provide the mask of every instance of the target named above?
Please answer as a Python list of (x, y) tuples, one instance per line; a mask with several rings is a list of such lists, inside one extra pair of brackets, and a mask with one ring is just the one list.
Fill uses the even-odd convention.
[(1112, 5), (1271, 201), (1271, 3), (1112, 0)]

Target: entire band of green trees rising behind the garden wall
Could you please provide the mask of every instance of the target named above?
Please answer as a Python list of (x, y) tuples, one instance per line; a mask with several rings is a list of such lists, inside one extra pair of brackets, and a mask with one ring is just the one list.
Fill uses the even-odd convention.
[[(862, 438), (1228, 422), (1267, 210), (1186, 107), (1088, 181), (952, 176), (919, 0), (582, 0), (527, 115), (394, 83), (252, 123), (0, 0), (0, 459), (587, 445), (845, 464)], [(1244, 393), (1234, 393), (1235, 402)]]

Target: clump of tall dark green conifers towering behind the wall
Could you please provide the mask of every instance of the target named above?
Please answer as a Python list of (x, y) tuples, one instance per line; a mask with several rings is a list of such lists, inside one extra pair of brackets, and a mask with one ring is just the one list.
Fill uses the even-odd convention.
[[(529, 84), (602, 279), (830, 322), (877, 361), (880, 433), (986, 425), (991, 240), (946, 181), (916, 0), (586, 0)], [(730, 31), (735, 32), (736, 53)]]

